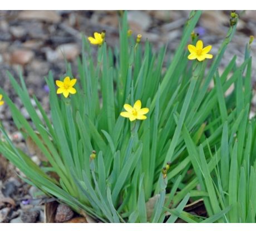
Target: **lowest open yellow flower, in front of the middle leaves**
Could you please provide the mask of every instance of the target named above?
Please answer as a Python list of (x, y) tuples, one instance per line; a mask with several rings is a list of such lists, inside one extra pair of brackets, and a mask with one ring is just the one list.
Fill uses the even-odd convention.
[(148, 108), (141, 108), (140, 100), (137, 100), (134, 104), (134, 107), (131, 107), (130, 104), (125, 104), (124, 108), (127, 112), (121, 112), (120, 115), (126, 118), (129, 118), (130, 121), (145, 120), (147, 117), (144, 114), (149, 112)]

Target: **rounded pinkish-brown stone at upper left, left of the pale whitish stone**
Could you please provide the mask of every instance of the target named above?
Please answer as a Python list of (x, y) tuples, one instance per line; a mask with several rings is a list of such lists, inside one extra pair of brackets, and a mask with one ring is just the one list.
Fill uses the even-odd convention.
[(26, 65), (31, 62), (35, 53), (28, 49), (16, 49), (11, 54), (11, 63)]

